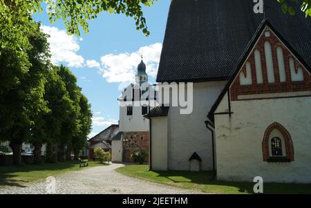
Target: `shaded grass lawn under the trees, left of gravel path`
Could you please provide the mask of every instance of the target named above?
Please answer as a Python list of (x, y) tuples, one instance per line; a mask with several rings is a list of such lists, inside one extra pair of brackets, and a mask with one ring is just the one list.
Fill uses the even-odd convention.
[[(100, 165), (107, 164), (93, 161), (88, 162), (89, 167)], [(88, 167), (80, 168), (79, 162), (76, 161), (0, 167), (0, 188), (4, 186), (24, 187), (32, 182), (44, 181), (48, 176), (57, 176), (68, 171), (79, 171), (87, 168)]]

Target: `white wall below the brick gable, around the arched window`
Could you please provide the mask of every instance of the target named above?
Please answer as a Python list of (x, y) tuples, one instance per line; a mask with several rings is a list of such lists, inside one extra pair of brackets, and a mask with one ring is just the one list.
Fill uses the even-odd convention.
[[(227, 109), (227, 96), (216, 113)], [(218, 180), (311, 182), (311, 97), (232, 102), (229, 115), (215, 115)], [(261, 142), (270, 124), (279, 122), (292, 136), (294, 162), (263, 162)]]

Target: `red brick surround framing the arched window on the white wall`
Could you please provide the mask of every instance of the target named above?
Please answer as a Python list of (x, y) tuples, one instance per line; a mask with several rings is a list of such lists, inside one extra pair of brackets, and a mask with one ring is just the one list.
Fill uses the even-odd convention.
[[(270, 156), (270, 135), (272, 131), (278, 130), (284, 140), (285, 144), (285, 152), (286, 155), (284, 157), (271, 157)], [(265, 135), (263, 137), (263, 143), (262, 143), (262, 148), (263, 148), (263, 161), (264, 162), (292, 162), (294, 161), (294, 145), (292, 143), (292, 137), (290, 133), (285, 129), (284, 126), (281, 124), (274, 122), (271, 124), (269, 127), (267, 127), (267, 130), (265, 131)]]

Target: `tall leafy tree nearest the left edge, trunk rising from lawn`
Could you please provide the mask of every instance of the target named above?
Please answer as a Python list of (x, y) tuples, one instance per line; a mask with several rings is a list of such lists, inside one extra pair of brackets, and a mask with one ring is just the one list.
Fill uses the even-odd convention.
[[(32, 128), (35, 126), (35, 117), (42, 112), (47, 112), (44, 101), (44, 70), (50, 57), (46, 36), (39, 30), (39, 26), (33, 27), (27, 34), (30, 47), (26, 51), (30, 67), (27, 73), (16, 79), (9, 87), (4, 86), (0, 93), (1, 126), (0, 135), (2, 140), (10, 141), (13, 151), (14, 164), (21, 164), (21, 144), (29, 142), (32, 138)], [(4, 48), (0, 59), (8, 65), (1, 70), (8, 71), (15, 65), (15, 60), (8, 57), (8, 48)], [(14, 53), (13, 53), (14, 54)], [(18, 58), (15, 57), (15, 58)], [(19, 62), (19, 60), (16, 60)], [(12, 65), (10, 65), (12, 64)], [(21, 71), (21, 70), (20, 70)]]

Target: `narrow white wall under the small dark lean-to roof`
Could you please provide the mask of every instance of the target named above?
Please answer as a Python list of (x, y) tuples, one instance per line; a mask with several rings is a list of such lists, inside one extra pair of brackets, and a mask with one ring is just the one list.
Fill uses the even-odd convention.
[(165, 171), (167, 164), (167, 117), (153, 117), (151, 120), (152, 169)]

